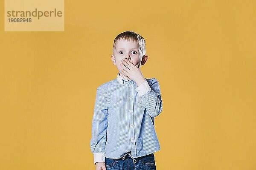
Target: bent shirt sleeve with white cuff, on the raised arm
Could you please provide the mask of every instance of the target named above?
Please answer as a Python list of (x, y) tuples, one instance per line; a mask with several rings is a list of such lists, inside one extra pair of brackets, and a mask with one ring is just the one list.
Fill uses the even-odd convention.
[[(150, 85), (148, 85), (150, 87), (149, 91), (145, 92), (146, 91), (145, 90), (144, 91), (145, 93), (143, 93), (142, 91), (138, 90), (137, 88), (139, 88), (140, 85), (135, 90), (138, 92), (139, 94), (138, 99), (145, 107), (149, 116), (156, 117), (163, 110), (163, 102), (161, 99), (160, 86), (157, 79), (153, 78), (151, 81), (152, 82), (150, 83)], [(147, 86), (146, 84), (148, 84), (148, 82), (147, 83), (146, 82), (142, 83), (145, 85), (145, 87)], [(140, 94), (143, 94), (143, 95), (140, 95)]]

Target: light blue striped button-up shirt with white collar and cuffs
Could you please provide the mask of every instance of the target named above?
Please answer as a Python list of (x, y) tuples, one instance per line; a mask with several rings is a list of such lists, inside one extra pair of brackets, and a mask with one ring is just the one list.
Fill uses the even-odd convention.
[(163, 110), (160, 86), (155, 78), (137, 86), (117, 78), (96, 89), (90, 149), (94, 164), (105, 157), (119, 159), (131, 151), (134, 158), (160, 150), (154, 117)]

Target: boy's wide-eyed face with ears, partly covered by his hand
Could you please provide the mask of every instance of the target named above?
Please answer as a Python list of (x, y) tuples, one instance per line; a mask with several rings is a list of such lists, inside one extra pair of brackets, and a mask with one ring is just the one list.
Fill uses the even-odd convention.
[[(135, 66), (138, 65), (138, 68), (140, 68), (140, 65), (145, 63), (145, 58), (147, 57), (147, 55), (142, 56), (142, 51), (140, 50), (137, 42), (127, 40), (118, 40), (116, 42), (116, 48), (114, 48), (113, 55), (111, 55), (112, 62), (114, 65), (116, 65), (121, 76), (122, 66), (120, 63), (122, 62), (122, 59), (128, 59)], [(143, 62), (141, 62), (142, 58)]]

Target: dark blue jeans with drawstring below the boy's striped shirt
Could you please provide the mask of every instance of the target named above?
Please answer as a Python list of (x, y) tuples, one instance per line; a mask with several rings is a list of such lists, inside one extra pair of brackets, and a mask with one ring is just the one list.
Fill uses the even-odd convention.
[(154, 153), (146, 156), (132, 158), (131, 152), (120, 159), (105, 158), (107, 170), (156, 170)]

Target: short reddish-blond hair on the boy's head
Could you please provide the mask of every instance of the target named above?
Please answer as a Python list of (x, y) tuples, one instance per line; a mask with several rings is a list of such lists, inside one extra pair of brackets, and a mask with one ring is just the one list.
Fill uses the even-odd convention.
[(125, 31), (117, 35), (113, 43), (113, 52), (114, 52), (114, 49), (116, 48), (116, 42), (118, 40), (135, 41), (138, 43), (139, 48), (142, 51), (142, 56), (146, 54), (145, 39), (140, 34), (137, 34), (134, 31)]

